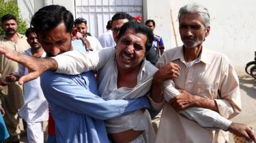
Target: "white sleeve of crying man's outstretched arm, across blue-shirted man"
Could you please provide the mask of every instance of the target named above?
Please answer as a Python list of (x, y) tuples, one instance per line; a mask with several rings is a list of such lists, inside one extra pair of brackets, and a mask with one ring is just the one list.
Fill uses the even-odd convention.
[(60, 74), (81, 74), (89, 70), (98, 71), (113, 56), (115, 48), (104, 48), (97, 52), (83, 53), (69, 51), (52, 57), (57, 61), (57, 73)]

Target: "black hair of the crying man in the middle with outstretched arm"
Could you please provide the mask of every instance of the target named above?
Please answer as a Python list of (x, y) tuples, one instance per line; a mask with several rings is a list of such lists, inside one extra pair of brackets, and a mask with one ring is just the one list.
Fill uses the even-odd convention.
[(147, 36), (147, 42), (145, 44), (146, 51), (150, 50), (152, 47), (152, 42), (154, 39), (154, 35), (152, 33), (152, 30), (150, 30), (146, 25), (143, 25), (142, 23), (136, 22), (136, 21), (130, 21), (124, 23), (124, 25), (121, 27), (119, 34), (117, 36), (117, 39), (120, 39), (124, 33), (128, 29), (132, 29), (135, 31), (135, 33), (142, 33)]

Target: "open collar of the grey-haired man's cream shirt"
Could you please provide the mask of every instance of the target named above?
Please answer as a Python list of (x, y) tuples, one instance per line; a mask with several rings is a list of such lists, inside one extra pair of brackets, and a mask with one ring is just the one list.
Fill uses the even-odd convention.
[[(202, 48), (201, 54), (199, 55), (199, 61), (205, 64), (211, 64), (211, 58), (208, 50)], [(180, 46), (173, 56), (173, 60), (180, 59), (182, 62), (186, 62), (184, 59), (183, 46)]]

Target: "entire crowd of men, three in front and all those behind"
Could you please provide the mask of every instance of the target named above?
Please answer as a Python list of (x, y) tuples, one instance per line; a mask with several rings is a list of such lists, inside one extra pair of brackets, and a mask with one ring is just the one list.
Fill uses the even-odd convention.
[(31, 143), (228, 142), (228, 131), (256, 142), (229, 120), (241, 112), (238, 76), (203, 46), (208, 10), (188, 4), (178, 20), (183, 45), (165, 50), (154, 20), (126, 12), (97, 38), (61, 5), (35, 12), (25, 35), (3, 16), (0, 142), (20, 142), (20, 117)]

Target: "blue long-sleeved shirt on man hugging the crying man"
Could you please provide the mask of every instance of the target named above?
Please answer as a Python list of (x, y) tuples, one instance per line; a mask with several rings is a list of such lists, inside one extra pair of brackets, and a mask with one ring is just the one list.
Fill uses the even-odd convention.
[(57, 142), (110, 142), (104, 121), (150, 105), (146, 97), (105, 101), (92, 72), (74, 76), (45, 72), (41, 86), (55, 120)]

